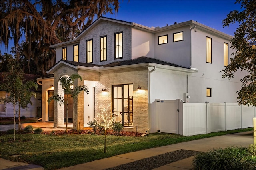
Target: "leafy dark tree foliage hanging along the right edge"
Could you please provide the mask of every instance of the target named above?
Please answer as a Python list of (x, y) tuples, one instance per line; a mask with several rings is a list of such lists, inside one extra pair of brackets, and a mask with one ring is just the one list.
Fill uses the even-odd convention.
[(231, 47), (236, 52), (232, 53), (231, 63), (222, 70), (222, 77), (231, 79), (238, 70), (247, 71), (247, 75), (241, 79), (242, 88), (238, 91), (238, 103), (256, 106), (256, 1), (237, 0), (241, 4), (241, 10), (231, 11), (223, 20), (223, 26), (239, 23)]

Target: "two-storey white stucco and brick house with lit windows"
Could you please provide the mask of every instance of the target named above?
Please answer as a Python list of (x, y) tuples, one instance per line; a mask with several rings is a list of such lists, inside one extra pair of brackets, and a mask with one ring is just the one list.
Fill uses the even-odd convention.
[(73, 73), (83, 78), (74, 86), (89, 89), (71, 103), (68, 118), (77, 130), (88, 127), (109, 104), (124, 130), (146, 132), (154, 122), (156, 99), (236, 103), (244, 73), (232, 80), (220, 73), (232, 57), (231, 38), (193, 20), (150, 28), (100, 17), (74, 40), (50, 46), (56, 65), (47, 73), (54, 77), (38, 79), (42, 121), (64, 124), (64, 107), (47, 101), (53, 93), (63, 95), (58, 78)]

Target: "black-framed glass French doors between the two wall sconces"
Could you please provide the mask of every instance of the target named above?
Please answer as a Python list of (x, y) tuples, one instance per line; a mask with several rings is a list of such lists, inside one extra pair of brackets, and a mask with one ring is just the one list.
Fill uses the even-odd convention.
[(133, 85), (113, 85), (113, 116), (124, 127), (133, 127)]

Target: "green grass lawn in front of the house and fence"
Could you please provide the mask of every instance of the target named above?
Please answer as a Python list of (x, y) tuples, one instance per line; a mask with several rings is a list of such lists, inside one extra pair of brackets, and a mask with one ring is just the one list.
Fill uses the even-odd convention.
[[(53, 170), (118, 154), (250, 130), (253, 128), (195, 136), (166, 133), (154, 133), (144, 137), (107, 136), (106, 154), (104, 154), (104, 135), (16, 134), (15, 142), (13, 142), (13, 135), (1, 135), (0, 156), (8, 160), (37, 164), (45, 170)], [(10, 157), (12, 155), (20, 156)]]

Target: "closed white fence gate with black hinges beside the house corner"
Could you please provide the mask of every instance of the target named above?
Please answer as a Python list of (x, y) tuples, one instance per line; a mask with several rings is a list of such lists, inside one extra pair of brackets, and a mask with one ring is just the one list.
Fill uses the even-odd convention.
[(177, 100), (156, 100), (158, 132), (178, 134)]

